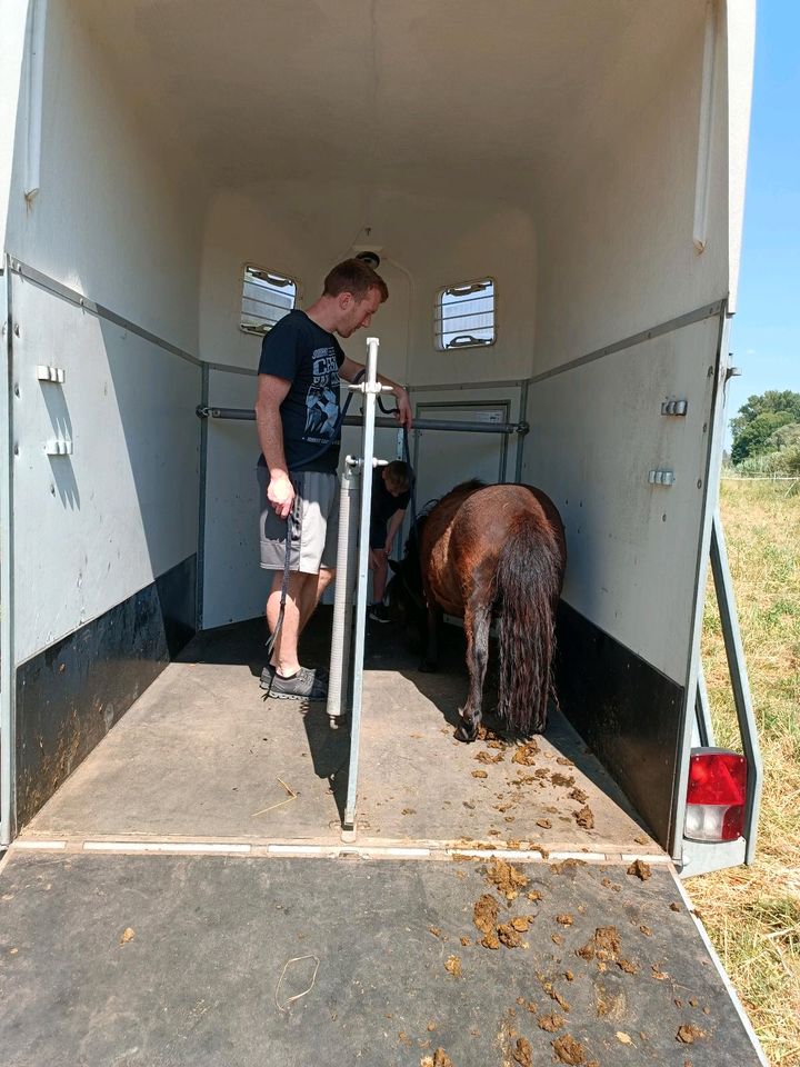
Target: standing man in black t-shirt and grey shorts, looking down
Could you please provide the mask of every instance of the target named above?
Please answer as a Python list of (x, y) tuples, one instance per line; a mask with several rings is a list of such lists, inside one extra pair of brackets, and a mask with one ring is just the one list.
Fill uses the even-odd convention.
[[(271, 662), (261, 675), (270, 696), (323, 700), (321, 671), (301, 667), (298, 637), (333, 578), (339, 518), (339, 379), (363, 369), (342, 351), (339, 337), (370, 325), (388, 298), (383, 279), (360, 259), (331, 270), (322, 296), (307, 311), (290, 311), (264, 337), (259, 362), (256, 421), (261, 458), (261, 566), (273, 570), (267, 622), (274, 632), (283, 581), (289, 522), (286, 611)], [(397, 419), (411, 426), (402, 386), (382, 375), (397, 398)]]

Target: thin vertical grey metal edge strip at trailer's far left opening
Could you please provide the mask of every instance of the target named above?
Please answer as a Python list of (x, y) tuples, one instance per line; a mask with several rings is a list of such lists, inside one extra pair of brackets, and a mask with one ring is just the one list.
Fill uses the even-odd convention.
[(0, 381), (0, 846), (16, 834), (17, 681), (13, 600), (13, 323), (11, 262), (0, 277), (0, 329), (4, 373)]

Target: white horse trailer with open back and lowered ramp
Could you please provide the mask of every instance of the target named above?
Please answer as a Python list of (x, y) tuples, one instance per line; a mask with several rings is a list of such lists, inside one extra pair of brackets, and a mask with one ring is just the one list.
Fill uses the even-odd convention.
[[(590, 1059), (763, 1063), (677, 880), (756, 842), (716, 513), (753, 34), (752, 0), (0, 2), (9, 1064), (483, 1064), (521, 1035), (583, 1063), (513, 1018), (572, 971)], [(259, 690), (252, 407), (264, 332), (357, 255), (418, 505), (537, 486), (568, 564), (528, 748), (453, 741), (457, 628), (441, 677), (367, 631), (342, 841), (347, 731)], [(401, 455), (382, 418), (374, 451)], [(743, 755), (704, 696), (711, 572)], [(329, 607), (307, 636), (329, 654)], [(509, 858), (538, 915), (487, 951), (471, 901)], [(630, 970), (581, 948), (612, 924)]]

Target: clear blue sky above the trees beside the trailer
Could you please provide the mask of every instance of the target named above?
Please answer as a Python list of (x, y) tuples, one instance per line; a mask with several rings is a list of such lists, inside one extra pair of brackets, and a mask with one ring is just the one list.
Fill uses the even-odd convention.
[[(727, 420), (751, 393), (800, 392), (800, 2), (760, 0)], [(727, 442), (730, 440), (730, 431)]]

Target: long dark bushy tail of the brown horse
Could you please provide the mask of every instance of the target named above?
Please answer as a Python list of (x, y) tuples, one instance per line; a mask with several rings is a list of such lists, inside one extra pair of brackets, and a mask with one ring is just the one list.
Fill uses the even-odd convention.
[(522, 734), (541, 732), (547, 720), (561, 567), (552, 531), (536, 517), (518, 516), (498, 564), (498, 711)]

